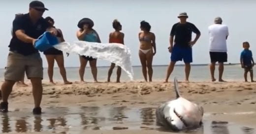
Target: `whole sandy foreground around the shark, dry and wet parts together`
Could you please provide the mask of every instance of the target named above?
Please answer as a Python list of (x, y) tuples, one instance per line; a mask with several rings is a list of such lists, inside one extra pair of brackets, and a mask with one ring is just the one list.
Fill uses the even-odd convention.
[[(256, 134), (255, 87), (245, 82), (179, 82), (182, 96), (202, 105), (205, 113), (202, 128), (184, 133)], [(11, 112), (0, 114), (0, 132), (172, 134), (155, 125), (155, 109), (175, 98), (172, 82), (44, 82), (43, 88), (43, 114), (37, 117), (32, 115), (31, 85), (14, 87)]]

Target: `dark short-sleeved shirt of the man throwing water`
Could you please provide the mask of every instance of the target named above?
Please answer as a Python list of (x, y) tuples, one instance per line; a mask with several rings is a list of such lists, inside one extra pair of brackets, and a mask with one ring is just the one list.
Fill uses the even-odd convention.
[(34, 48), (32, 43), (25, 43), (19, 40), (15, 32), (17, 30), (24, 30), (26, 35), (37, 39), (46, 31), (48, 25), (48, 22), (46, 22), (43, 18), (39, 19), (35, 24), (33, 24), (29, 14), (24, 14), (23, 16), (14, 19), (12, 22), (13, 36), (9, 45), (10, 51), (15, 51), (23, 55), (37, 53), (38, 50)]

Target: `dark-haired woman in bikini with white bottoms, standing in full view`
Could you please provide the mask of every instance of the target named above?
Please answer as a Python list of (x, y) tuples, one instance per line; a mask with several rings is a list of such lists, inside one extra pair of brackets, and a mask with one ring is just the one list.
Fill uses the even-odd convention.
[[(156, 54), (155, 34), (150, 32), (151, 26), (148, 22), (140, 22), (141, 32), (139, 33), (139, 58), (142, 66), (142, 73), (147, 82), (147, 73), (149, 75), (149, 82), (152, 82), (153, 68), (152, 60)], [(154, 49), (154, 50), (153, 50)]]

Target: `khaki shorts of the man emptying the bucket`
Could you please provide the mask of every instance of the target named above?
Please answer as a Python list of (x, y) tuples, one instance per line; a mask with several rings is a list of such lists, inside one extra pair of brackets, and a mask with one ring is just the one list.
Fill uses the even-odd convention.
[(10, 51), (7, 58), (7, 66), (4, 71), (4, 79), (20, 81), (26, 72), (27, 78), (43, 79), (43, 64), (39, 53), (28, 56)]

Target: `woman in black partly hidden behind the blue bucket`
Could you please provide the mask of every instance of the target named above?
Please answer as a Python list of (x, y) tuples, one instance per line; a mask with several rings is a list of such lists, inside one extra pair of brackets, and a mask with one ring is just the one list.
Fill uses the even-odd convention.
[[(64, 37), (62, 34), (61, 29), (58, 29), (54, 26), (54, 20), (51, 17), (46, 17), (45, 20), (49, 23), (50, 26), (52, 26), (53, 28), (55, 28), (55, 30), (57, 31), (57, 38), (59, 40), (59, 42), (64, 42)], [(47, 63), (48, 63), (48, 76), (50, 79), (50, 83), (55, 84), (53, 81), (53, 68), (54, 68), (54, 61), (57, 62), (57, 65), (60, 68), (60, 73), (62, 75), (62, 78), (64, 80), (64, 84), (72, 84), (72, 82), (67, 81), (66, 78), (66, 70), (64, 67), (64, 56), (63, 56), (63, 52), (61, 50), (58, 50), (54, 47), (47, 49), (46, 51), (43, 52), (43, 54), (45, 55), (46, 59), (47, 59)]]

